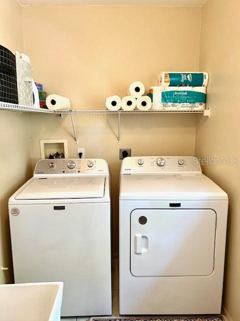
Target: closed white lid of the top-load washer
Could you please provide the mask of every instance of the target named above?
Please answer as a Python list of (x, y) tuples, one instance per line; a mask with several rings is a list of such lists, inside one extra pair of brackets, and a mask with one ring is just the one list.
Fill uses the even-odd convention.
[(105, 177), (32, 178), (16, 200), (103, 198)]

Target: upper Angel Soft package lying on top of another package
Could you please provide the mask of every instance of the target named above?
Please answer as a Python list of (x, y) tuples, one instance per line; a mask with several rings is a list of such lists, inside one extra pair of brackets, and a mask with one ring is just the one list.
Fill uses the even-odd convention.
[(162, 87), (191, 86), (206, 87), (208, 83), (207, 72), (167, 72), (163, 71), (157, 76), (157, 85)]

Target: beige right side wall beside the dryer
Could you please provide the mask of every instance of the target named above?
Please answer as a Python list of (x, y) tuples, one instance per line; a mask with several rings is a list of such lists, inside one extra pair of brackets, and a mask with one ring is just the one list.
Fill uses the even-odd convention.
[[(211, 117), (199, 117), (196, 150), (199, 157), (237, 157), (239, 143), (240, 4), (236, 0), (208, 0), (202, 11), (200, 70), (209, 72), (207, 105)], [(228, 239), (223, 305), (233, 321), (240, 315), (240, 168), (205, 166), (204, 173), (229, 196)]]

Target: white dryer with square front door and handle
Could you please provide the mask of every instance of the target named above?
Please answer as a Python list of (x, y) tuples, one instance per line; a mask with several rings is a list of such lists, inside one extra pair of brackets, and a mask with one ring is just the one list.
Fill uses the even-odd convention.
[(124, 158), (120, 314), (220, 313), (227, 207), (195, 157)]

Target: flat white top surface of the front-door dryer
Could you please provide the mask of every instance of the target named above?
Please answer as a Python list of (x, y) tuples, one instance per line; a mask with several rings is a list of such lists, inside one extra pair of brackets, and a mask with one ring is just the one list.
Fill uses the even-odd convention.
[(121, 175), (120, 200), (227, 200), (203, 174)]

